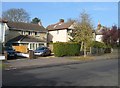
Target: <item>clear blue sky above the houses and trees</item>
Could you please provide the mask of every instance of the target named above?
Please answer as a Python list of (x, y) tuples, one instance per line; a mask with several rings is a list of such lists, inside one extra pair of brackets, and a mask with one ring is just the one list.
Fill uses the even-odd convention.
[(2, 11), (11, 8), (23, 8), (31, 17), (41, 19), (44, 27), (57, 23), (59, 19), (65, 22), (69, 19), (78, 19), (85, 10), (92, 20), (94, 27), (98, 21), (107, 27), (118, 25), (117, 2), (2, 2)]

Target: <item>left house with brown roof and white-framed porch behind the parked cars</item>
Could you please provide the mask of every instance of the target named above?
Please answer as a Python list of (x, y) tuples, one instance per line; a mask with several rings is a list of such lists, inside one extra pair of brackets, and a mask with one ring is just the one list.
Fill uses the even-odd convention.
[(47, 30), (41, 24), (6, 22), (5, 44), (35, 50), (47, 45)]

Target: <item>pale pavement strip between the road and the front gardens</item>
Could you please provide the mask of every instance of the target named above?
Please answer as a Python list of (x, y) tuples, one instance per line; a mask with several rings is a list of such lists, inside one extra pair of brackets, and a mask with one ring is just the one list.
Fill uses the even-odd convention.
[(5, 68), (5, 70), (11, 69), (28, 69), (28, 68), (42, 68), (42, 67), (51, 67), (51, 66), (59, 66), (59, 65), (69, 65), (69, 64), (79, 64), (92, 60), (103, 60), (103, 59), (114, 59), (118, 58), (117, 49), (113, 50), (112, 53), (104, 54), (100, 56), (91, 56), (92, 59), (88, 60), (75, 60), (70, 58), (79, 58), (81, 56), (71, 56), (71, 57), (39, 57), (37, 59), (28, 59), (21, 58), (16, 60), (8, 60), (5, 61), (4, 64), (8, 64), (9, 67)]

